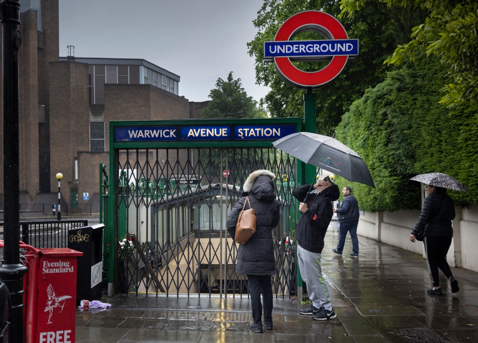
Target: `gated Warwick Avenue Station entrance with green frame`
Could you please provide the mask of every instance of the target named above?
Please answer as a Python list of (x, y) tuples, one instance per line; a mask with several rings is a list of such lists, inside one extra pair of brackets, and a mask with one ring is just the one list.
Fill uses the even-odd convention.
[(265, 169), (276, 174), (280, 203), (273, 291), (294, 296), (292, 189), (301, 175), (297, 161), (271, 143), (300, 128), (298, 118), (112, 122), (104, 208), (109, 293), (247, 296), (226, 220), (247, 176)]

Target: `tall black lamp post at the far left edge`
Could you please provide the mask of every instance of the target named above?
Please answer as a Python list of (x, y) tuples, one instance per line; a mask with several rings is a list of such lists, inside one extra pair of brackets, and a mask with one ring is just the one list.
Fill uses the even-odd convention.
[(28, 270), (20, 263), (20, 182), (18, 136), (18, 50), (21, 46), (20, 2), (1, 0), (3, 49), (3, 265), (0, 279), (10, 292), (10, 342), (24, 342), (23, 276)]

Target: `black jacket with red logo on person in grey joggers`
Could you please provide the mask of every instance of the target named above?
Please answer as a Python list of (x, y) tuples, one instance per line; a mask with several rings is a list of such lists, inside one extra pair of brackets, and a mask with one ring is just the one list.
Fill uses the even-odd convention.
[(299, 201), (306, 203), (309, 208), (297, 223), (295, 239), (303, 249), (314, 253), (322, 253), (324, 248), (324, 237), (333, 215), (332, 201), (340, 196), (339, 186), (332, 185), (320, 193), (307, 193), (310, 184), (304, 184), (292, 191)]

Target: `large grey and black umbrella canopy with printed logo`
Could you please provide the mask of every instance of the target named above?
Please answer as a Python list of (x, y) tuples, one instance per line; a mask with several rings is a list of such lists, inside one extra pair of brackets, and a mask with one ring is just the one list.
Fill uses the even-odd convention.
[(298, 132), (272, 142), (274, 148), (354, 182), (372, 187), (372, 176), (359, 154), (328, 136)]

